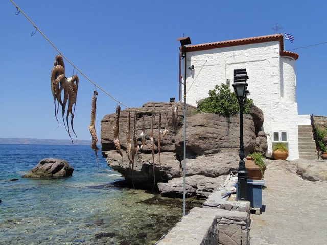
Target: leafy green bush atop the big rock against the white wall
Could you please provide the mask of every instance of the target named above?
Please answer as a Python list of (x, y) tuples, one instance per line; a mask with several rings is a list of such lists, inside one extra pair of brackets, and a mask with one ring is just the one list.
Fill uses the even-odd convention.
[[(253, 105), (252, 99), (246, 99), (243, 113), (249, 113), (249, 106)], [(209, 91), (209, 97), (204, 99), (197, 109), (197, 113), (209, 112), (224, 116), (231, 116), (239, 113), (240, 105), (235, 92), (231, 92), (226, 84), (216, 85), (214, 90)]]

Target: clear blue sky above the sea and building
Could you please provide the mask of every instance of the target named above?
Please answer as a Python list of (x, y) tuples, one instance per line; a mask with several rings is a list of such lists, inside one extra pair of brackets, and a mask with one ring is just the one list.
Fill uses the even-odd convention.
[[(295, 37), (299, 114), (327, 116), (327, 2), (14, 0), (58, 50), (99, 87), (129, 107), (178, 99), (176, 39), (192, 44), (270, 35), (278, 23)], [(0, 3), (0, 137), (69, 139), (54, 115), (50, 74), (56, 50), (10, 0)], [(306, 47), (314, 45), (311, 47)], [(305, 47), (305, 48), (301, 48)], [(294, 50), (295, 48), (299, 48)], [(65, 61), (66, 76), (73, 67)], [(74, 71), (76, 73), (76, 70)], [(78, 139), (88, 131), (95, 86), (80, 73), (74, 118)], [(96, 130), (117, 103), (99, 92)], [(122, 109), (125, 109), (122, 106)], [(60, 115), (60, 113), (59, 113)], [(74, 138), (73, 138), (74, 139)], [(98, 143), (99, 144), (99, 143)]]

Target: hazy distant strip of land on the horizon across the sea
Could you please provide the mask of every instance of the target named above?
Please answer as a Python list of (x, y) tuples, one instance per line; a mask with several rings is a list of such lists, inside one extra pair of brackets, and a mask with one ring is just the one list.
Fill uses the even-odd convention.
[[(91, 145), (91, 140), (73, 140), (74, 145)], [(71, 140), (66, 139), (28, 139), (28, 138), (0, 138), (0, 144), (48, 144), (71, 145)]]

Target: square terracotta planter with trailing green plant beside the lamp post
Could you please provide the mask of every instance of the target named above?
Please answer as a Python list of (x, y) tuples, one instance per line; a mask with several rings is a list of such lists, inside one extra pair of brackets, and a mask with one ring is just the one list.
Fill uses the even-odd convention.
[(262, 160), (264, 156), (260, 152), (253, 152), (246, 157), (245, 168), (248, 171), (247, 178), (261, 180), (264, 178), (266, 164)]

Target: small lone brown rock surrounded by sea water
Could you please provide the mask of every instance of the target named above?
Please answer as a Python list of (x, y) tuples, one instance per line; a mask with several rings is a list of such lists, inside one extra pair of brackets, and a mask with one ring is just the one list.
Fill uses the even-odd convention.
[(23, 178), (58, 178), (72, 176), (74, 168), (67, 161), (56, 158), (42, 159)]

